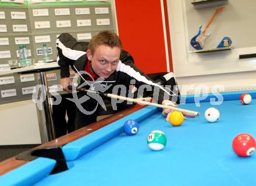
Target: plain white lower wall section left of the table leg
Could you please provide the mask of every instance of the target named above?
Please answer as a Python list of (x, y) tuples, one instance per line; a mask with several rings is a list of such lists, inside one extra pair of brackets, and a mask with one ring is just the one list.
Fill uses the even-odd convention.
[(32, 100), (0, 105), (0, 145), (41, 144), (37, 109)]

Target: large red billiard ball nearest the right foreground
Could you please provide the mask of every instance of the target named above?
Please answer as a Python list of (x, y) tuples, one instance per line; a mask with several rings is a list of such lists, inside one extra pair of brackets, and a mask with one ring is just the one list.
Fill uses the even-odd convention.
[(239, 134), (234, 137), (232, 147), (241, 157), (251, 156), (255, 151), (255, 140), (250, 134)]

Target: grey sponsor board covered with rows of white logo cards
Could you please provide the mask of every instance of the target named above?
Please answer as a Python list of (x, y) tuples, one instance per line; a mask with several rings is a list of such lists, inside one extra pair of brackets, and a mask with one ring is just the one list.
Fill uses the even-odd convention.
[[(50, 61), (56, 60), (56, 38), (69, 32), (78, 41), (90, 41), (100, 30), (114, 30), (110, 1), (1, 0), (0, 71), (16, 68), (20, 46), (31, 64), (43, 62), (43, 45)], [(72, 71), (73, 72), (73, 71)], [(0, 104), (31, 99), (37, 74), (0, 76)], [(50, 92), (62, 91), (59, 70), (47, 72)]]

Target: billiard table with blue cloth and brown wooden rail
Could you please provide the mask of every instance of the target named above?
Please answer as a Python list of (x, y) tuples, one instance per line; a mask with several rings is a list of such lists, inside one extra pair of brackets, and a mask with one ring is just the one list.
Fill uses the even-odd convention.
[[(181, 126), (165, 121), (159, 108), (136, 105), (37, 148), (61, 147), (67, 170), (52, 173), (55, 159), (13, 157), (0, 163), (0, 185), (252, 185), (256, 155), (241, 158), (232, 149), (237, 134), (256, 137), (256, 92), (247, 91), (253, 97), (248, 105), (240, 103), (242, 93), (222, 93), (223, 102), (210, 94), (197, 104), (194, 100), (200, 95), (186, 96), (186, 104), (179, 107), (201, 115), (187, 118)], [(221, 113), (218, 122), (205, 120), (209, 107)], [(140, 125), (134, 136), (123, 133), (128, 119)], [(166, 134), (161, 151), (147, 147), (152, 130)]]

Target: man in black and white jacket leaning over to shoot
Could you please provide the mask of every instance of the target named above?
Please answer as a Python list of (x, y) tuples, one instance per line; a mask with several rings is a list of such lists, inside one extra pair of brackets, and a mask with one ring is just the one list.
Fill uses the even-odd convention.
[[(89, 43), (77, 42), (70, 34), (61, 34), (57, 38), (56, 45), (58, 64), (61, 66), (61, 85), (67, 92), (71, 92), (67, 88), (72, 85), (72, 80), (69, 78), (69, 65), (71, 65), (73, 70), (78, 72), (81, 83), (85, 83), (87, 89), (94, 90), (99, 85), (107, 87), (106, 92), (113, 93), (117, 90), (115, 87), (120, 85), (125, 86), (127, 90), (130, 90), (131, 85), (137, 89), (147, 85), (151, 90), (146, 90), (144, 95), (154, 92), (155, 102), (175, 105), (172, 101), (163, 100), (165, 94), (172, 96), (172, 93), (152, 82), (147, 75), (138, 70), (133, 64), (133, 57), (122, 50), (122, 43), (114, 32), (98, 32)], [(98, 78), (102, 78), (102, 81), (94, 82)], [(83, 109), (77, 110), (76, 129), (96, 121), (98, 104), (99, 99), (93, 99), (93, 96), (91, 99), (86, 97), (81, 105), (90, 114), (85, 114)], [(170, 110), (164, 110), (164, 114), (169, 114), (169, 112)]]

